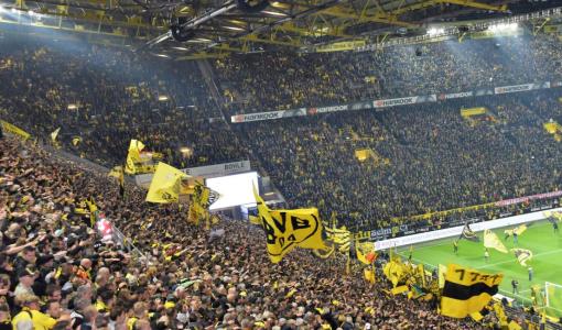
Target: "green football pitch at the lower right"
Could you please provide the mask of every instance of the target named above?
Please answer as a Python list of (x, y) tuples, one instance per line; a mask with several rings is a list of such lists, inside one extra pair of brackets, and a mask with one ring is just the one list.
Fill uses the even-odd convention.
[[(504, 240), (505, 229), (511, 228), (496, 229), (495, 232), (508, 250), (520, 248), (532, 251), (533, 257), (527, 262), (533, 268), (532, 280), (529, 280), (527, 268), (517, 262), (511, 252), (505, 254), (488, 249), (489, 260), (486, 262), (483, 232), (477, 233), (480, 242), (461, 240), (457, 255), (453, 252), (453, 241), (456, 238), (414, 245), (412, 260), (428, 265), (429, 268), (434, 268), (439, 264), (456, 263), (484, 272), (504, 273), (500, 294), (529, 306), (531, 304), (531, 285), (538, 285), (541, 289), (544, 289), (544, 282), (562, 285), (562, 234), (555, 234), (552, 224), (548, 221), (536, 222), (519, 237), (519, 243), (516, 245), (512, 238)], [(399, 249), (399, 253), (403, 257), (408, 257), (409, 250), (409, 246), (402, 246), (401, 250)], [(511, 279), (519, 282), (519, 294), (512, 294)], [(549, 296), (551, 308), (548, 309), (548, 314), (562, 317), (562, 289), (556, 289), (554, 293), (553, 296)], [(542, 306), (542, 302), (539, 302), (539, 306)]]

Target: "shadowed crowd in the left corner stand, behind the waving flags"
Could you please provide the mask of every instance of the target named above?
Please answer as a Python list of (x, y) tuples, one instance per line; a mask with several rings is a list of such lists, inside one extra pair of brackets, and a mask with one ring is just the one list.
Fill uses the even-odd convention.
[(3, 120), (46, 141), (61, 128), (57, 143), (97, 163), (122, 164), (131, 139), (183, 167), (244, 160), (192, 62), (7, 35), (0, 79)]

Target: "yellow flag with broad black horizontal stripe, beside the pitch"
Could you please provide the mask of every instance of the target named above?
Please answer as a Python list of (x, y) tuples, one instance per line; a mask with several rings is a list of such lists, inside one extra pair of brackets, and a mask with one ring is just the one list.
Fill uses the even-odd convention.
[(486, 274), (451, 264), (445, 274), (441, 297), (441, 314), (452, 318), (465, 318), (480, 311), (491, 296), (498, 293), (504, 274)]

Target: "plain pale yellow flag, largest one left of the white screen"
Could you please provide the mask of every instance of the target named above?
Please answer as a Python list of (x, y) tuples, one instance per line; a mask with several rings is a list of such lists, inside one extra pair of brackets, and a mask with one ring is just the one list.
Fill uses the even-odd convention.
[(188, 176), (180, 169), (165, 163), (159, 163), (156, 172), (150, 183), (147, 201), (150, 202), (177, 202), (182, 178)]

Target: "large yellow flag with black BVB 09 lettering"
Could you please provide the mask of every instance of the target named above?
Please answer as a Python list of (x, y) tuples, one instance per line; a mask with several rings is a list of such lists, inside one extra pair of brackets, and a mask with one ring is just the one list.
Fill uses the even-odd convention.
[(256, 187), (253, 195), (266, 231), (267, 251), (272, 263), (280, 262), (296, 246), (325, 249), (317, 209), (270, 210), (256, 191)]

